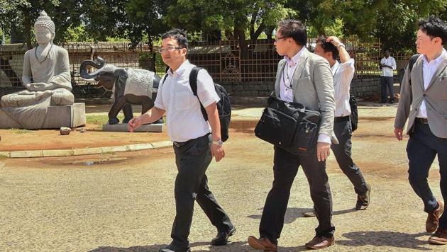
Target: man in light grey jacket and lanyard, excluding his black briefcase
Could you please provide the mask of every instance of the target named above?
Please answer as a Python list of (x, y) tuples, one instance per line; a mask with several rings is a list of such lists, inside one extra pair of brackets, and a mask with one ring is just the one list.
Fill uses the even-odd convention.
[(321, 111), (318, 142), (313, 153), (297, 156), (275, 147), (273, 159), (274, 181), (265, 200), (260, 221), (260, 238), (248, 237), (248, 244), (255, 249), (277, 251), (277, 239), (284, 225), (290, 188), (302, 166), (310, 186), (319, 226), (307, 248), (326, 248), (334, 242), (335, 227), (332, 219), (332, 196), (326, 174), (326, 159), (333, 134), (335, 101), (333, 80), (329, 63), (323, 57), (307, 51), (307, 31), (301, 21), (285, 20), (278, 23), (275, 46), (284, 56), (278, 64), (275, 95), (283, 101), (302, 103), (306, 108)]

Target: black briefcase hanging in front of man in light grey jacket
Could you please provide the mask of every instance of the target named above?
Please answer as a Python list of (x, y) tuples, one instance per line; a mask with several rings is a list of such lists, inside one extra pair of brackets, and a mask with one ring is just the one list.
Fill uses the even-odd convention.
[(255, 135), (292, 154), (309, 154), (316, 146), (320, 120), (319, 111), (282, 101), (272, 94), (255, 127)]

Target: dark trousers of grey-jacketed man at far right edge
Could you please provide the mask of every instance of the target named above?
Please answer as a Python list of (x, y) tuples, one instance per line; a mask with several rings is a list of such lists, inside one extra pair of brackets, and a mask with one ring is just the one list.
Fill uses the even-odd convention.
[[(433, 212), (438, 208), (438, 203), (427, 181), (436, 154), (438, 154), (441, 174), (441, 194), (444, 199), (447, 199), (447, 138), (436, 137), (431, 132), (429, 124), (419, 122), (416, 118), (407, 144), (408, 178), (414, 192), (424, 202), (425, 212)], [(443, 214), (439, 219), (439, 227), (447, 229), (447, 214)]]

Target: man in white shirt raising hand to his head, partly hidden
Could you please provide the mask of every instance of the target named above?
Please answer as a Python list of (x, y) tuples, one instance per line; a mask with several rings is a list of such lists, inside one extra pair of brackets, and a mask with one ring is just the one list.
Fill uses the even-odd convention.
[[(333, 132), (336, 134), (339, 144), (332, 144), (331, 149), (341, 171), (354, 185), (355, 193), (357, 193), (355, 209), (365, 210), (370, 204), (371, 188), (365, 182), (362, 171), (351, 157), (353, 132), (350, 120), (349, 91), (355, 70), (354, 59), (349, 56), (345, 45), (334, 36), (319, 38), (316, 42), (315, 53), (327, 59), (332, 70), (336, 101)], [(340, 62), (336, 60), (338, 55), (340, 55)]]

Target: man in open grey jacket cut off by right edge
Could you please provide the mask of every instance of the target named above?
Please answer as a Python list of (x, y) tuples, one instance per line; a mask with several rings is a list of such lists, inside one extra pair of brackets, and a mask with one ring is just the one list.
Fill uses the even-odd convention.
[(434, 16), (418, 23), (417, 52), (413, 69), (405, 72), (394, 135), (401, 141), (408, 119), (407, 156), (409, 183), (428, 213), (426, 231), (435, 232), (429, 242), (447, 244), (447, 214), (442, 200), (431, 193), (427, 177), (438, 155), (441, 193), (447, 197), (447, 24)]

